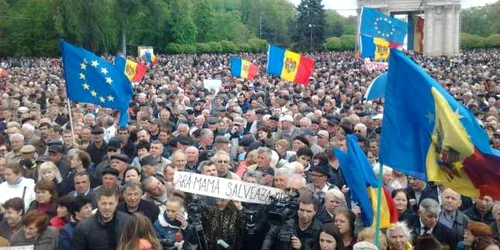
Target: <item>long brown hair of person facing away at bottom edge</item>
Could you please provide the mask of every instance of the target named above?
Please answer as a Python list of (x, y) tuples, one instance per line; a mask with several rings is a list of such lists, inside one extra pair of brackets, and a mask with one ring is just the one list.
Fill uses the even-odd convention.
[(156, 237), (153, 224), (142, 214), (133, 214), (125, 224), (117, 250), (163, 249)]

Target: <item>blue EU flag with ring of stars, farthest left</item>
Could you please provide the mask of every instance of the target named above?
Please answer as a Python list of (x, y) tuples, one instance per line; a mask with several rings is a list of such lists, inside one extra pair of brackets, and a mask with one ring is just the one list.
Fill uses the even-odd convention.
[(92, 52), (63, 40), (60, 46), (68, 98), (119, 110), (120, 127), (125, 127), (133, 89), (123, 71)]

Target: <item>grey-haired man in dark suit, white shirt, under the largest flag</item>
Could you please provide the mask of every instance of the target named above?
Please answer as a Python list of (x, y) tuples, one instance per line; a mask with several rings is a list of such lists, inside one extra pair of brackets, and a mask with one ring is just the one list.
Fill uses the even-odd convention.
[(447, 244), (454, 250), (458, 243), (458, 235), (447, 226), (439, 222), (439, 203), (426, 198), (420, 202), (418, 219), (413, 222), (412, 238), (416, 239), (423, 234), (432, 234), (442, 244)]

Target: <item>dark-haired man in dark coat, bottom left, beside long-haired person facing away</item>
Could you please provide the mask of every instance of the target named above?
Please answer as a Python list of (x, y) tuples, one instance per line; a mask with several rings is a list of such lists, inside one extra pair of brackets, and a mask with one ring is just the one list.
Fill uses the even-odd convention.
[(130, 215), (116, 211), (119, 194), (114, 189), (103, 189), (97, 197), (97, 213), (75, 227), (71, 249), (116, 249), (118, 240)]

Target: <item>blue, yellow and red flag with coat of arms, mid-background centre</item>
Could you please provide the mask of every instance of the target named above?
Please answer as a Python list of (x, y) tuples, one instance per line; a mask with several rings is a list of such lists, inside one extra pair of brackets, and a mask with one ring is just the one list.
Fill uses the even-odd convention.
[(314, 60), (312, 58), (269, 44), (267, 73), (290, 82), (307, 85), (313, 70)]

